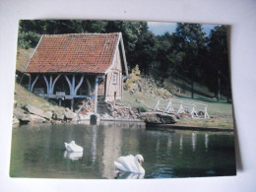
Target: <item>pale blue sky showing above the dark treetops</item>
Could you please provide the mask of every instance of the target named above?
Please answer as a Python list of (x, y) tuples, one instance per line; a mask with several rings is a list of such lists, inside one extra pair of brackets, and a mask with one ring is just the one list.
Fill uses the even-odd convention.
[[(217, 25), (203, 24), (203, 31), (207, 35), (210, 34), (211, 30)], [(163, 22), (148, 22), (149, 30), (156, 35), (163, 34), (164, 32), (172, 33), (175, 31), (176, 23), (163, 23)]]

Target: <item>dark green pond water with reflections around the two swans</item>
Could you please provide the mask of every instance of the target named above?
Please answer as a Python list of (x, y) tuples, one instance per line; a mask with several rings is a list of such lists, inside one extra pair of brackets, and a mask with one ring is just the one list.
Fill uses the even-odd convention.
[[(84, 153), (67, 153), (76, 141)], [(114, 160), (141, 154), (145, 175), (119, 172)], [(13, 128), (11, 177), (172, 178), (235, 175), (233, 134), (146, 129), (138, 123), (36, 124)]]

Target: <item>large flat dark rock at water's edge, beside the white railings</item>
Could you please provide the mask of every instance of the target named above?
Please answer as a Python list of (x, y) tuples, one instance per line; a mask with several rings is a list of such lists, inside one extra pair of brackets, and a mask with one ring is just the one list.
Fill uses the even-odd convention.
[(175, 115), (162, 112), (143, 112), (141, 113), (141, 119), (146, 123), (155, 124), (174, 124), (177, 122)]

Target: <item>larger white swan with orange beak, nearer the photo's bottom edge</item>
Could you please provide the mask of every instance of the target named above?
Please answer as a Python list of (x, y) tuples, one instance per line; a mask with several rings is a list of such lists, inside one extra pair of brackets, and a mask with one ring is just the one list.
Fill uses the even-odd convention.
[(114, 161), (114, 165), (123, 171), (145, 174), (145, 169), (142, 167), (143, 161), (142, 155), (136, 157), (130, 155), (118, 158), (117, 161)]

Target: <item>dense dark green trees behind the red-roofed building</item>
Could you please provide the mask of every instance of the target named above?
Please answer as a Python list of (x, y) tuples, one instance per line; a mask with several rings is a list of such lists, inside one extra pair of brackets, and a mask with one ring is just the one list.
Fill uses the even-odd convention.
[(230, 97), (226, 28), (217, 26), (207, 36), (199, 24), (177, 24), (176, 31), (155, 35), (146, 22), (23, 20), (18, 46), (35, 47), (43, 33), (122, 32), (130, 69), (163, 81), (182, 78), (205, 85), (216, 96)]

